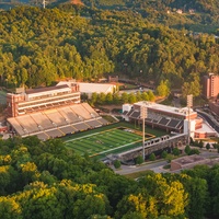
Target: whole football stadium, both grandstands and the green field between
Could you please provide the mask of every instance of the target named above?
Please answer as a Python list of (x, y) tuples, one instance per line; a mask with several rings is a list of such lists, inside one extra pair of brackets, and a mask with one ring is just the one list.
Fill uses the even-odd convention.
[(80, 84), (74, 81), (7, 94), (8, 130), (12, 135), (37, 136), (41, 140), (62, 138), (69, 150), (99, 158), (142, 146), (142, 108), (147, 108), (146, 141), (166, 132), (187, 134), (188, 126), (194, 137), (203, 127), (192, 108), (150, 102), (124, 104), (125, 122), (112, 125), (88, 103), (81, 103)]

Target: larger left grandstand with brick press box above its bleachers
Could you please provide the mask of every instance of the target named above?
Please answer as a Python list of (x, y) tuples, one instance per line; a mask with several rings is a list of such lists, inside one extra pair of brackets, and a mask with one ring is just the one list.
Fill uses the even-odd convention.
[(107, 125), (88, 103), (80, 103), (80, 87), (61, 85), (7, 94), (9, 130), (42, 140)]

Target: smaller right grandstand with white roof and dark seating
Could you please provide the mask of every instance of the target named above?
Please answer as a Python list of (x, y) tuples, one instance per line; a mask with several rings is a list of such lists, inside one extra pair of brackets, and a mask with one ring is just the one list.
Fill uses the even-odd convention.
[[(153, 102), (138, 102), (123, 105), (123, 118), (127, 122), (142, 123), (142, 108), (147, 108), (146, 125), (152, 128), (164, 129), (168, 132), (188, 134), (192, 138), (203, 137), (203, 129), (206, 127), (203, 118), (192, 108), (172, 107)], [(217, 131), (205, 128), (205, 137), (217, 136)]]

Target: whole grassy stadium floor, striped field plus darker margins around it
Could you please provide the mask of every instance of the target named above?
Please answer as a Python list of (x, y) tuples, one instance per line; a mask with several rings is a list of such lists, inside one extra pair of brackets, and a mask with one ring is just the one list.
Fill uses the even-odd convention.
[[(146, 128), (146, 140), (165, 135), (163, 131)], [(117, 123), (101, 128), (73, 134), (62, 138), (68, 149), (79, 154), (104, 158), (111, 153), (118, 153), (141, 146), (141, 129), (134, 124)]]

